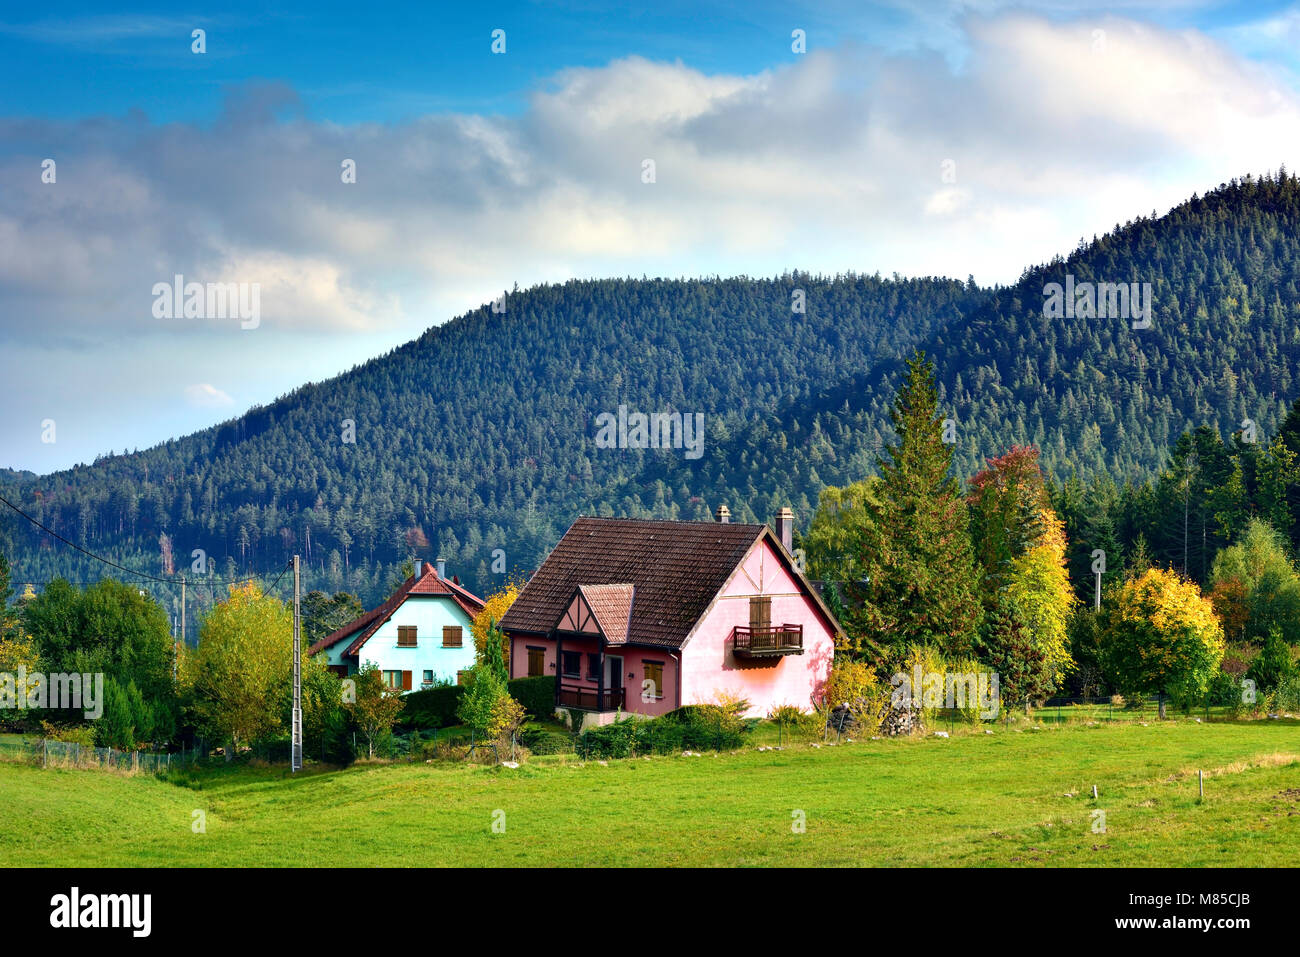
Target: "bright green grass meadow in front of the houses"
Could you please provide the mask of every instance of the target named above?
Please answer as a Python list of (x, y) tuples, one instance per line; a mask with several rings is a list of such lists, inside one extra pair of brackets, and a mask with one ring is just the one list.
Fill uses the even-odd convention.
[(1269, 866), (1300, 846), (1295, 720), (178, 780), (0, 763), (0, 866)]

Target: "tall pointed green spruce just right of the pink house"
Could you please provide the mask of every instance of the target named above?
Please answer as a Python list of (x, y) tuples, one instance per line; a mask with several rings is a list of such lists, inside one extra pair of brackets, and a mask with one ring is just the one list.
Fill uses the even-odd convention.
[(878, 459), (878, 501), (857, 542), (863, 576), (844, 588), (859, 653), (871, 642), (974, 649), (982, 609), (968, 516), (937, 407), (933, 364), (916, 352), (890, 413), (897, 442)]

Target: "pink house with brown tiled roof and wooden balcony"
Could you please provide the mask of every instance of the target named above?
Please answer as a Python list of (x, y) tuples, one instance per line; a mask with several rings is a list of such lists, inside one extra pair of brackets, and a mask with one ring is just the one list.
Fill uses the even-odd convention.
[[(838, 623), (777, 534), (714, 521), (578, 519), (502, 619), (511, 676), (555, 675), (556, 707), (660, 715), (719, 693), (810, 710)], [(784, 544), (783, 544), (784, 540)]]

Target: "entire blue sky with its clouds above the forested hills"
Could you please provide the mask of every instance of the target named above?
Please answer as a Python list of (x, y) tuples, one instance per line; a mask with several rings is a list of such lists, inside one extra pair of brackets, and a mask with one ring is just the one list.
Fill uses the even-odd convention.
[[(1295, 168), (1297, 49), (1280, 3), (9, 9), (0, 467), (211, 425), (515, 283), (1011, 281)], [(257, 328), (159, 319), (178, 273), (256, 283)]]

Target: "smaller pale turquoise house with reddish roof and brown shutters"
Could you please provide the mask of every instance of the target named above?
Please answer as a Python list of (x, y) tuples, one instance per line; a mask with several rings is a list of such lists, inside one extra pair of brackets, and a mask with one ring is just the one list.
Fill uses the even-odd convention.
[(374, 662), (389, 688), (419, 690), (460, 680), (474, 664), (471, 624), (481, 598), (446, 577), (446, 567), (416, 562), (415, 575), (384, 605), (348, 622), (307, 653), (325, 655), (341, 677)]

